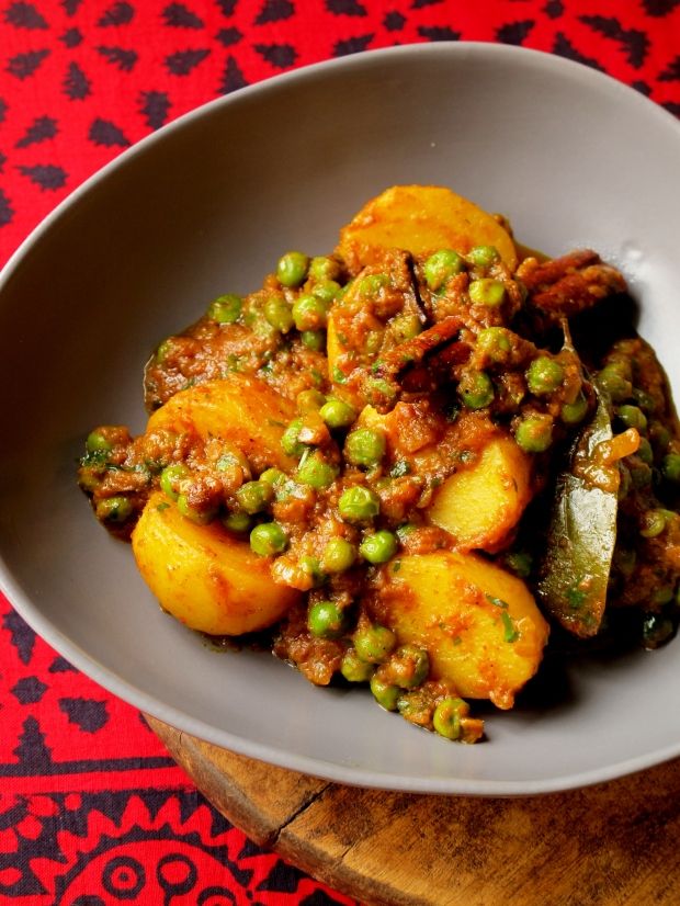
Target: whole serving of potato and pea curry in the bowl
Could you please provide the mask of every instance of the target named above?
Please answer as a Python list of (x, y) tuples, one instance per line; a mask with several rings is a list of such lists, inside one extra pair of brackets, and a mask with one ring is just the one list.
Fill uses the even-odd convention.
[(160, 343), (144, 434), (87, 439), (165, 611), (464, 743), (548, 636), (675, 634), (680, 438), (615, 268), (419, 185), (272, 265)]

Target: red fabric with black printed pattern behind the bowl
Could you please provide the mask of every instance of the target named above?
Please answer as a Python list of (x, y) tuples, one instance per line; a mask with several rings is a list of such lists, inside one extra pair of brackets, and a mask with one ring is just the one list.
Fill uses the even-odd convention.
[[(367, 48), (497, 41), (680, 115), (680, 0), (0, 0), (0, 264), (124, 148), (199, 104)], [(206, 803), (141, 715), (0, 599), (0, 902), (349, 904)]]

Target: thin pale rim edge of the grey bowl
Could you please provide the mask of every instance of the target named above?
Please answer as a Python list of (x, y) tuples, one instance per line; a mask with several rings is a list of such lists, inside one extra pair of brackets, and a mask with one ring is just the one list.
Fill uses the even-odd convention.
[[(10, 256), (7, 263), (0, 271), (0, 298), (3, 287), (9, 283), (14, 272), (22, 267), (29, 258), (32, 249), (43, 240), (67, 212), (80, 199), (90, 193), (100, 182), (105, 181), (109, 174), (120, 168), (128, 166), (138, 155), (145, 154), (152, 148), (155, 143), (163, 141), (166, 136), (189, 127), (194, 121), (204, 117), (208, 112), (218, 107), (228, 107), (241, 103), (253, 94), (279, 91), (281, 88), (294, 86), (296, 82), (306, 82), (317, 75), (332, 72), (340, 69), (353, 69), (364, 66), (381, 66), (383, 60), (392, 60), (397, 57), (413, 57), (421, 55), (428, 58), (446, 56), (473, 55), (480, 58), (495, 57), (506, 59), (524, 60), (537, 69), (551, 69), (562, 72), (570, 79), (576, 79), (586, 88), (596, 86), (608, 89), (624, 98), (626, 102), (637, 104), (644, 110), (646, 116), (656, 116), (662, 122), (665, 127), (676, 131), (680, 140), (680, 122), (659, 104), (650, 101), (635, 89), (621, 82), (612, 76), (597, 70), (587, 65), (557, 56), (555, 54), (518, 47), (514, 45), (497, 44), (492, 42), (437, 42), (437, 43), (413, 43), (400, 45), (398, 47), (387, 47), (374, 50), (364, 50), (350, 56), (327, 59), (318, 63), (298, 67), (291, 71), (273, 76), (271, 78), (254, 82), (229, 94), (206, 101), (195, 109), (178, 116), (170, 123), (161, 126), (156, 132), (150, 133), (136, 141), (132, 147), (116, 155), (111, 161), (88, 177), (82, 183), (73, 189), (55, 208), (21, 242), (18, 249)], [(275, 765), (281, 768), (298, 771), (313, 777), (322, 778), (336, 783), (353, 786), (365, 786), (383, 789), (398, 792), (430, 793), (430, 794), (458, 794), (477, 796), (520, 796), (539, 795), (554, 793), (589, 786), (608, 780), (613, 780), (636, 771), (650, 768), (655, 765), (667, 761), (680, 755), (680, 737), (677, 744), (668, 745), (661, 749), (646, 752), (642, 756), (624, 758), (620, 761), (601, 766), (591, 770), (580, 771), (573, 774), (546, 778), (535, 781), (515, 780), (476, 780), (461, 777), (451, 778), (408, 778), (401, 774), (385, 774), (375, 769), (345, 767), (338, 762), (321, 761), (316, 757), (296, 755), (294, 752), (282, 752), (280, 749), (267, 744), (246, 739), (241, 736), (233, 735), (228, 729), (220, 729), (204, 721), (193, 717), (181, 709), (163, 704), (154, 695), (145, 692), (129, 680), (120, 676), (114, 670), (102, 665), (97, 658), (82, 649), (69, 637), (64, 635), (46, 616), (43, 615), (38, 607), (31, 597), (22, 590), (14, 579), (11, 568), (0, 551), (0, 590), (5, 594), (10, 605), (12, 605), (26, 623), (56, 652), (61, 654), (69, 662), (81, 670), (86, 676), (93, 679), (101, 687), (112, 694), (121, 698), (134, 707), (157, 717), (158, 720), (174, 726), (193, 736), (204, 739), (217, 746), (223, 746), (233, 751), (245, 755), (260, 761)]]

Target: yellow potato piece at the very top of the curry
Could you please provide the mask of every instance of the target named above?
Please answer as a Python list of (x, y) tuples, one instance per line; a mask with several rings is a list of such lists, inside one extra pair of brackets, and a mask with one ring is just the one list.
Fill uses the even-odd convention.
[(352, 267), (361, 267), (374, 262), (376, 248), (415, 254), (451, 248), (466, 254), (475, 246), (495, 246), (511, 270), (517, 267), (508, 230), (473, 202), (441, 186), (394, 185), (342, 228), (338, 252)]

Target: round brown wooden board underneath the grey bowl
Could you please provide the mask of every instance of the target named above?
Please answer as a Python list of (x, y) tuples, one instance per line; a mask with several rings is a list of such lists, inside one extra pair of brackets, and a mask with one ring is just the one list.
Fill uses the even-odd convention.
[(534, 797), (412, 795), (274, 768), (148, 721), (233, 824), (364, 904), (680, 904), (680, 760)]

